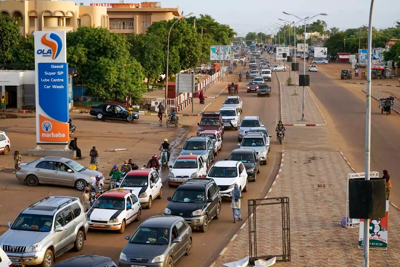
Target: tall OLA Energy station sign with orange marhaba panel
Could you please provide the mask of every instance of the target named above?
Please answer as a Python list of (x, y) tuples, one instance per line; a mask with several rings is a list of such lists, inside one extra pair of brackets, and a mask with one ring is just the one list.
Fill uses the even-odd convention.
[(68, 64), (65, 31), (35, 32), (36, 144), (68, 144)]

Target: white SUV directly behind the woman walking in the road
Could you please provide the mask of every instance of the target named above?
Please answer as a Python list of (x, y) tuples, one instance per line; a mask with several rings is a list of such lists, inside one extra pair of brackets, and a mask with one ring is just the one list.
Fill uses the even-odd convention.
[(247, 176), (243, 163), (235, 160), (217, 161), (207, 174), (207, 178), (213, 179), (220, 188), (221, 196), (228, 197), (235, 184), (239, 186), (240, 191), (247, 192)]

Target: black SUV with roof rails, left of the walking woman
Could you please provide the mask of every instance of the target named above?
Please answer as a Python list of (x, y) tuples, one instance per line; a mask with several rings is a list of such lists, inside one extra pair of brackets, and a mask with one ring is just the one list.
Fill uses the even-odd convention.
[[(164, 209), (164, 215), (181, 216), (192, 228), (206, 232), (208, 223), (221, 213), (221, 193), (210, 178), (192, 178), (183, 182)], [(209, 204), (210, 203), (210, 204)]]

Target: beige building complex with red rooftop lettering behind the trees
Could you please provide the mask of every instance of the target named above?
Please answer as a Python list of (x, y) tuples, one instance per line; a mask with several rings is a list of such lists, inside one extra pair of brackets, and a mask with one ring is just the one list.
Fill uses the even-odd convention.
[[(122, 34), (146, 33), (152, 22), (180, 16), (179, 8), (161, 8), (160, 2), (138, 4), (102, 3), (84, 5), (73, 1), (0, 1), (0, 14), (21, 18), (21, 34), (35, 30), (76, 30), (79, 26), (101, 26)], [(35, 14), (37, 20), (35, 25)]]

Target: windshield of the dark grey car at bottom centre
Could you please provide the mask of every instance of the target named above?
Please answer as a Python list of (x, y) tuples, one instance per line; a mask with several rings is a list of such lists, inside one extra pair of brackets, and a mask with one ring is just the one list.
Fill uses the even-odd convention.
[(139, 227), (129, 240), (133, 244), (168, 245), (170, 229), (159, 227)]

